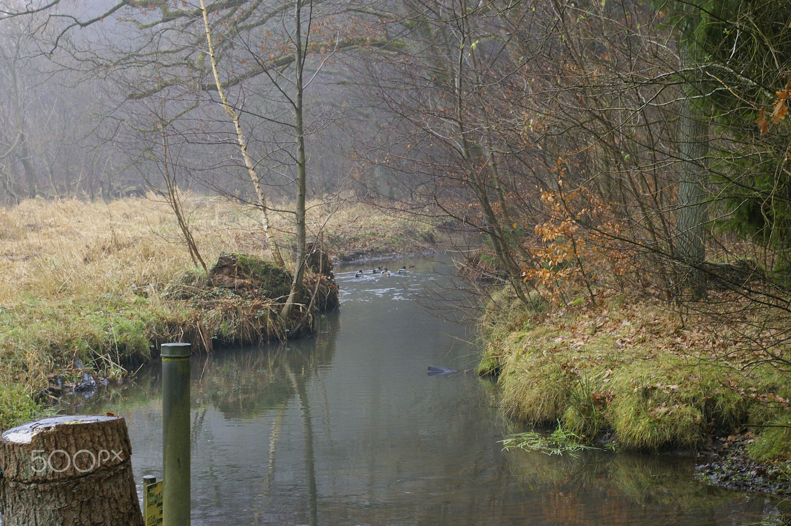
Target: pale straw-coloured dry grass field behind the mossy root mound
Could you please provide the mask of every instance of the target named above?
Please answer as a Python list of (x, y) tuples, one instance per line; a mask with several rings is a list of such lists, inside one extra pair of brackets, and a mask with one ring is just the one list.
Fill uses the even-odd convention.
[[(263, 248), (259, 214), (248, 206), (187, 195), (187, 216), (207, 263), (220, 252), (271, 259)], [(273, 229), (290, 253), (289, 218), (274, 214)], [(429, 225), (392, 218), (359, 203), (308, 203), (308, 237), (324, 233), (331, 253), (347, 258), (427, 247)], [(149, 199), (110, 202), (28, 199), (0, 209), (0, 302), (29, 293), (37, 299), (159, 289), (192, 267), (168, 206)]]

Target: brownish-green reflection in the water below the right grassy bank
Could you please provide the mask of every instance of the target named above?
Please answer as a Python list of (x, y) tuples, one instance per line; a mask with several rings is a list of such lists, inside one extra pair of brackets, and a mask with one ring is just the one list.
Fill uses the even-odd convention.
[(534, 502), (528, 524), (743, 524), (760, 520), (776, 505), (760, 495), (697, 482), (689, 459), (678, 456), (509, 456)]

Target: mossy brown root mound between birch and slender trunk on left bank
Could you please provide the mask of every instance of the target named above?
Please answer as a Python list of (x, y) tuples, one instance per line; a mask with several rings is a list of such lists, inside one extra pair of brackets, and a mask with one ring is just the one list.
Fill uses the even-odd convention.
[(293, 276), (274, 263), (246, 254), (221, 252), (209, 271), (211, 286), (255, 290), (272, 300), (286, 297)]

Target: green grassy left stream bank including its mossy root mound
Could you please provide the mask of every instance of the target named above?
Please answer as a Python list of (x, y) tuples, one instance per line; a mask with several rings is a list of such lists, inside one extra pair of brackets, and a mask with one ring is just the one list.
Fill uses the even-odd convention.
[[(218, 271), (222, 265), (225, 274)], [(230, 274), (229, 265), (234, 267)], [(0, 365), (13, 373), (0, 386), (0, 429), (31, 418), (39, 404), (30, 396), (28, 385), (46, 386), (55, 379), (51, 373), (70, 368), (75, 357), (95, 374), (123, 377), (124, 365), (149, 361), (160, 342), (191, 342), (207, 351), (215, 344), (287, 339), (312, 331), (318, 312), (338, 304), (335, 282), (308, 272), (305, 308), (293, 319), (282, 320), (279, 312), (291, 281), (288, 272), (244, 254), (221, 255), (212, 272), (214, 279), (188, 269), (156, 295), (106, 295), (61, 302), (28, 297), (0, 309), (4, 327)]]

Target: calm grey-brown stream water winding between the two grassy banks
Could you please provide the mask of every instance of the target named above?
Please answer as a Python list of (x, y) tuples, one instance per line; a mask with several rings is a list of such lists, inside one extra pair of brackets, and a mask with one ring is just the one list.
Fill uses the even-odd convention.
[[(193, 359), (192, 524), (744, 524), (774, 501), (692, 479), (692, 459), (502, 452), (509, 431), (465, 327), (416, 301), (437, 278), (354, 278), (312, 339)], [(378, 265), (378, 263), (377, 263)], [(161, 475), (160, 365), (72, 406), (127, 418), (134, 474)], [(74, 403), (74, 401), (73, 401)]]

